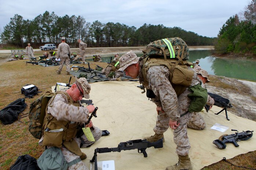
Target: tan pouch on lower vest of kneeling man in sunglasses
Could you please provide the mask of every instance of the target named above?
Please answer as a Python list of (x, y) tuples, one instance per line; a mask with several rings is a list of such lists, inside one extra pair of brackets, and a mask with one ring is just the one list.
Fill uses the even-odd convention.
[(60, 148), (62, 146), (62, 132), (46, 132), (44, 131), (43, 146), (55, 146)]

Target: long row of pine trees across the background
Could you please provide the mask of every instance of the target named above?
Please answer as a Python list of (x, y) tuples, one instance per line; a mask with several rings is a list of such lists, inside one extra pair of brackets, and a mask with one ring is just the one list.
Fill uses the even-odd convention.
[(180, 37), (190, 46), (204, 46), (213, 45), (215, 39), (200, 36), (180, 27), (145, 23), (137, 29), (121, 23), (105, 24), (98, 20), (89, 23), (80, 15), (60, 17), (48, 11), (33, 20), (24, 20), (21, 15), (15, 14), (1, 33), (2, 43), (23, 48), (27, 43), (33, 46), (44, 43), (59, 44), (61, 37), (66, 37), (66, 42), (70, 46), (76, 46), (77, 39), (80, 38), (89, 47), (145, 46), (167, 37)]

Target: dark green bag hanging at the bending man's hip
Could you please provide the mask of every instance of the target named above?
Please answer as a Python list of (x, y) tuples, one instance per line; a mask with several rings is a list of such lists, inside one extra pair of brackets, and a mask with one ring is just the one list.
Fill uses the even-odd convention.
[(187, 95), (191, 99), (191, 103), (189, 106), (189, 112), (201, 112), (204, 108), (207, 99), (208, 93), (206, 88), (201, 87), (200, 84), (189, 87), (189, 90), (192, 91)]

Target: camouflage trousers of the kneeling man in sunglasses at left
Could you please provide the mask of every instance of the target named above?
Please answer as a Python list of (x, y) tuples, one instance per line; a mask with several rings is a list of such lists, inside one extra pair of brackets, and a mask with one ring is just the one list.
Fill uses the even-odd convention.
[[(99, 140), (102, 132), (99, 128), (94, 126), (94, 130), (91, 129), (92, 135), (94, 136), (95, 141)], [(90, 146), (91, 144), (93, 144), (94, 142), (92, 141), (88, 141), (87, 137), (85, 135), (81, 136), (81, 138), (83, 139), (84, 143), (82, 148), (85, 148), (87, 146)], [(80, 138), (74, 138), (74, 140), (77, 142), (78, 146), (80, 146), (81, 144), (81, 139)], [(73, 152), (70, 152), (69, 150), (67, 150), (67, 148), (65, 147), (61, 147), (62, 153), (64, 158), (67, 160), (67, 162), (71, 162), (74, 159), (79, 158), (80, 156), (74, 154)], [(89, 170), (88, 167), (84, 164), (83, 161), (78, 162), (75, 165), (70, 166), (67, 170)]]

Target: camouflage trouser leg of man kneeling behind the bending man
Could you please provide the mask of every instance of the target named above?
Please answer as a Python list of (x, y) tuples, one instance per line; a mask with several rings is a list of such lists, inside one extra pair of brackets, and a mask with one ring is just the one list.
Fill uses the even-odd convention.
[(192, 113), (191, 119), (189, 120), (189, 122), (187, 122), (187, 126), (189, 128), (198, 130), (205, 129), (206, 127), (204, 118), (201, 116), (200, 113), (197, 112)]

